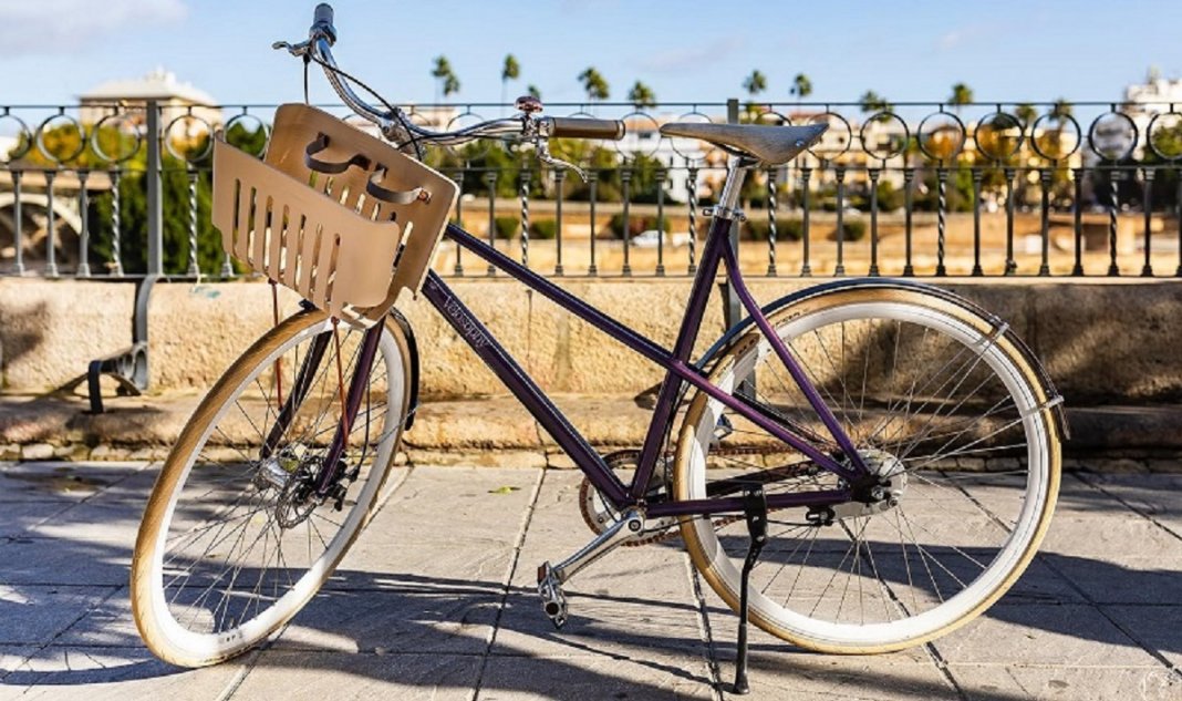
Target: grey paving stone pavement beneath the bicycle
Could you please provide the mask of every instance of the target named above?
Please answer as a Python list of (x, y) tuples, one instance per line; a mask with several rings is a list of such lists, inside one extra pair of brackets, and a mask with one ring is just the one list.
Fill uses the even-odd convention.
[[(404, 467), (326, 588), (261, 650), (186, 670), (139, 643), (128, 564), (157, 465), (0, 462), (0, 700), (725, 699), (736, 617), (674, 540), (569, 586), (579, 475)], [(441, 508), (441, 505), (446, 507)], [(755, 699), (1182, 700), (1182, 475), (1065, 475), (1037, 562), (973, 624), (879, 656), (754, 630)]]

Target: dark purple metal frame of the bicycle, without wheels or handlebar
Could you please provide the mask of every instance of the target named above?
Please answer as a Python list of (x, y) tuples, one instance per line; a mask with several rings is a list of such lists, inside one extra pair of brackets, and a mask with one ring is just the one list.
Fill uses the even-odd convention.
[[(715, 218), (710, 225), (706, 248), (702, 252), (701, 266), (694, 278), (686, 316), (673, 350), (660, 346), (632, 329), (604, 314), (540, 274), (518, 264), (508, 255), (480, 241), (462, 228), (449, 225), (444, 232), (447, 238), (455, 241), (459, 246), (467, 248), (476, 257), (500, 268), (531, 290), (535, 290), (576, 317), (665, 369), (665, 377), (661, 383), (656, 410), (645, 434), (637, 470), (630, 485), (624, 485), (616, 476), (603, 457), (587, 443), (586, 439), (571, 426), (561, 410), (550, 401), (533, 378), (505, 350), (505, 346), (489, 333), (488, 329), (472, 314), (468, 307), (455, 297), (447, 283), (434, 271), (428, 272), (422, 292), (428, 301), (455, 329), (456, 333), (472, 348), (476, 356), (505, 383), (505, 387), (508, 388), (513, 396), (553, 436), (554, 441), (571, 456), (591, 483), (616, 508), (622, 509), (644, 501), (644, 492), (656, 468), (661, 446), (674, 420), (674, 405), (681, 391), (682, 383), (706, 392), (712, 398), (768, 431), (778, 440), (792, 446), (819, 467), (844, 478), (846, 485), (862, 483), (868, 479), (870, 473), (860, 455), (855, 450), (852, 441), (850, 441), (837, 417), (825, 404), (817, 388), (810, 382), (799, 363), (792, 357), (784, 342), (774, 332), (766, 316), (743, 284), (734, 249), (730, 246), (729, 229), (730, 220), (728, 219)], [(778, 358), (788, 369), (793, 381), (800, 387), (808, 403), (849, 460), (849, 463), (839, 462), (833, 456), (825, 454), (817, 446), (782, 426), (774, 416), (769, 416), (766, 411), (760, 411), (759, 407), (754, 403), (715, 387), (703, 372), (690, 364), (689, 356), (693, 351), (694, 342), (697, 339), (697, 331), (720, 264), (725, 266), (727, 279), (738, 293), (740, 301), (753, 317), (756, 326), (767, 338)], [(768, 494), (767, 504), (771, 508), (827, 506), (850, 501), (851, 496), (851, 487), (845, 486), (837, 489), (795, 494)], [(651, 518), (742, 512), (742, 498), (740, 496), (661, 501), (647, 505), (647, 513)]]

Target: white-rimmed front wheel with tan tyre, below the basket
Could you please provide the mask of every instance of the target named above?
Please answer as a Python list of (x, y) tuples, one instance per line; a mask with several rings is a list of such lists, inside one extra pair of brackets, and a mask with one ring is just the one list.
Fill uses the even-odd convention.
[[(340, 383), (364, 331), (297, 314), (246, 351), (197, 407), (148, 501), (131, 566), (132, 612), (158, 657), (184, 667), (236, 655), (299, 611), (378, 502), (402, 433), (409, 352), (388, 323), (329, 499), (311, 489), (340, 422)], [(338, 375), (338, 352), (340, 369)], [(310, 371), (314, 366), (316, 371)], [(303, 401), (273, 440), (284, 398)], [(265, 449), (265, 444), (271, 449)]]

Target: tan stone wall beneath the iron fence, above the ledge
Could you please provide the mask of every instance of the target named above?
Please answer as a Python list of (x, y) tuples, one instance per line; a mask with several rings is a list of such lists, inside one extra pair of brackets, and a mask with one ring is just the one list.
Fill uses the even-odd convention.
[[(491, 331), (550, 391), (639, 392), (660, 370), (508, 279), (450, 281)], [(753, 279), (761, 301), (814, 281)], [(563, 280), (578, 297), (670, 345), (689, 280)], [(1182, 397), (1182, 283), (1174, 280), (956, 279), (947, 287), (1008, 319), (1043, 358), (1069, 403), (1145, 404)], [(0, 279), (0, 372), (6, 394), (40, 394), (131, 340), (134, 285)], [(285, 312), (296, 298), (284, 294)], [(504, 394), (463, 342), (423, 301), (415, 325), (428, 397)], [(271, 291), (256, 283), (161, 284), (150, 305), (152, 391), (208, 387), (271, 325)], [(715, 294), (699, 350), (722, 331)]]

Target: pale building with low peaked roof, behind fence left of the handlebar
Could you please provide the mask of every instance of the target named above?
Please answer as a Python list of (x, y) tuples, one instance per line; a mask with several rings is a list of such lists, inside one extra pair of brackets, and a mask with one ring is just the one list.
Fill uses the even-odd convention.
[(118, 109), (129, 113), (135, 123), (142, 123), (143, 106), (149, 100), (161, 106), (162, 129), (184, 115), (196, 117), (174, 126), (169, 136), (175, 139), (197, 139), (206, 135), (206, 124), (209, 128), (222, 124), (221, 109), (215, 106), (217, 103), (209, 93), (178, 82), (175, 73), (162, 67), (142, 78), (108, 80), (86, 91), (78, 98), (79, 118), (85, 124), (95, 124)]

